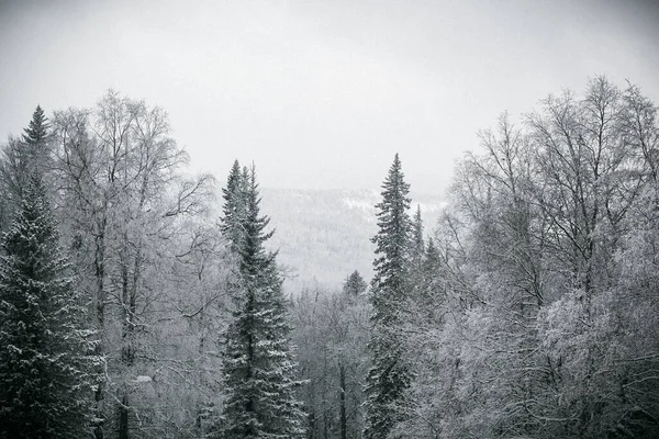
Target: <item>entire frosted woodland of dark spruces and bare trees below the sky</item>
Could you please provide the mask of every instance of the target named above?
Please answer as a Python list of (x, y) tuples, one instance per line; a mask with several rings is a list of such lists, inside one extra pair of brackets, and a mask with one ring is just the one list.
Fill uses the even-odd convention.
[(656, 104), (599, 77), (479, 134), (437, 224), (383, 170), (370, 282), (286, 291), (254, 166), (190, 176), (114, 91), (37, 106), (0, 159), (0, 438), (659, 437)]

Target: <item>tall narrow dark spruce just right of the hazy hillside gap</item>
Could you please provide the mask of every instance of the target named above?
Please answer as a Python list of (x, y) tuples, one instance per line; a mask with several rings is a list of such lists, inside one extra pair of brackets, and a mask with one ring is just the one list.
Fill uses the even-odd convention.
[(380, 229), (372, 238), (378, 256), (370, 297), (372, 367), (366, 384), (366, 439), (386, 438), (404, 419), (405, 393), (411, 385), (401, 334), (410, 257), (410, 184), (404, 181), (398, 154), (382, 189), (382, 201), (376, 205)]

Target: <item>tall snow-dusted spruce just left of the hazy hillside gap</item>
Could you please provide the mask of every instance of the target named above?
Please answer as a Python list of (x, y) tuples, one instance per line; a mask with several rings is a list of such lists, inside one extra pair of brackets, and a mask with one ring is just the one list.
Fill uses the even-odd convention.
[[(238, 169), (237, 165), (234, 169)], [(304, 434), (303, 415), (294, 396), (299, 382), (293, 379), (295, 363), (289, 346), (282, 280), (276, 254), (264, 247), (272, 232), (266, 232), (269, 218), (260, 216), (254, 168), (248, 181), (245, 182), (245, 173), (241, 180), (238, 185), (244, 190), (234, 192), (236, 199), (225, 201), (225, 207), (243, 203), (239, 209), (245, 215), (236, 228), (242, 233), (237, 240), (239, 282), (232, 285), (236, 304), (226, 334), (227, 398), (221, 437), (297, 438)]]

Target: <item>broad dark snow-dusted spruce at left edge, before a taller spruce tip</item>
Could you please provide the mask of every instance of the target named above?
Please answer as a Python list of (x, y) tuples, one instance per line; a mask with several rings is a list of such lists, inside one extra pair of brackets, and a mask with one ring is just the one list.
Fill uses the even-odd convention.
[(2, 243), (0, 267), (0, 438), (90, 434), (92, 354), (85, 309), (58, 251), (55, 221), (38, 177)]

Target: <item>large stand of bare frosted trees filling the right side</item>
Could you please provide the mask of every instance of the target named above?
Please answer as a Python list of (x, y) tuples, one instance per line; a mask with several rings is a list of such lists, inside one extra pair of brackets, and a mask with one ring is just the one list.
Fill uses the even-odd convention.
[(407, 318), (398, 434), (657, 435), (656, 111), (594, 78), (481, 133), (438, 228), (440, 313)]

